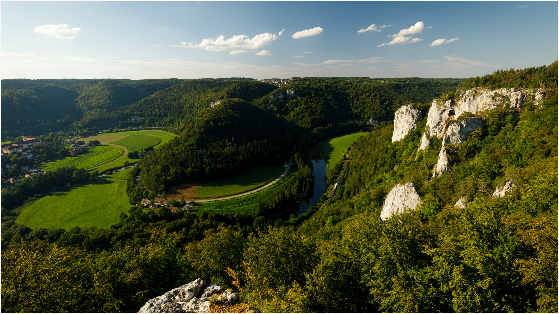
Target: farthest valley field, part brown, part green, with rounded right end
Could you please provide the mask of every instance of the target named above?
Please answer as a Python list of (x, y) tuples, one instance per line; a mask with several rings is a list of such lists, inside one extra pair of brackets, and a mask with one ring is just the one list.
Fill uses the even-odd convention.
[[(139, 131), (103, 133), (103, 134), (83, 137), (77, 140), (85, 141), (85, 142), (97, 140), (102, 143), (112, 143), (112, 144), (124, 146), (129, 151), (136, 151), (139, 150), (140, 148), (146, 148), (148, 146), (154, 146), (154, 148), (158, 148), (160, 145), (165, 144), (175, 136), (176, 135), (172, 133), (161, 131), (161, 130), (139, 130)], [(154, 137), (157, 138), (157, 140), (155, 140)]]

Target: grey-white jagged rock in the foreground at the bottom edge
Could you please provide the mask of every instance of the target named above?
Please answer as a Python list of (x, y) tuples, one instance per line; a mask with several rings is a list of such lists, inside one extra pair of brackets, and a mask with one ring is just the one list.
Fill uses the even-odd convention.
[[(198, 278), (191, 283), (175, 288), (163, 296), (150, 299), (138, 313), (209, 313), (209, 298), (222, 292), (220, 286), (208, 284)], [(239, 301), (239, 297), (229, 290), (216, 298), (216, 303), (229, 305)]]

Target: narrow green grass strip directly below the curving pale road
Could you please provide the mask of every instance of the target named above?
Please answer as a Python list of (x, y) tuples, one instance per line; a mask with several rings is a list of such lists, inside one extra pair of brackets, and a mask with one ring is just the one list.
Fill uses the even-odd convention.
[(198, 203), (195, 207), (196, 211), (214, 211), (217, 213), (256, 213), (258, 201), (264, 200), (278, 191), (282, 191), (283, 186), (289, 182), (295, 173), (297, 172), (290, 172), (286, 174), (286, 176), (276, 184), (264, 189), (263, 191), (255, 192), (254, 194), (225, 199), (224, 201)]

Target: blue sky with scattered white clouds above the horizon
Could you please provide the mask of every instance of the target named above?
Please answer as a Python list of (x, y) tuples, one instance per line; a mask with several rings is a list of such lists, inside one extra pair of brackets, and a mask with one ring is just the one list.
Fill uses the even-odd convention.
[(2, 79), (466, 78), (558, 54), (556, 1), (1, 6)]

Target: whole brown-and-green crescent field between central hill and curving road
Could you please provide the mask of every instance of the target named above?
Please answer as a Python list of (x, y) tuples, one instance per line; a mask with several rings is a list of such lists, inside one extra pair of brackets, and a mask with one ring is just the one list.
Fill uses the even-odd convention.
[(250, 191), (272, 182), (285, 171), (285, 167), (259, 167), (239, 177), (205, 184), (186, 183), (168, 189), (167, 196), (179, 199), (208, 199)]

